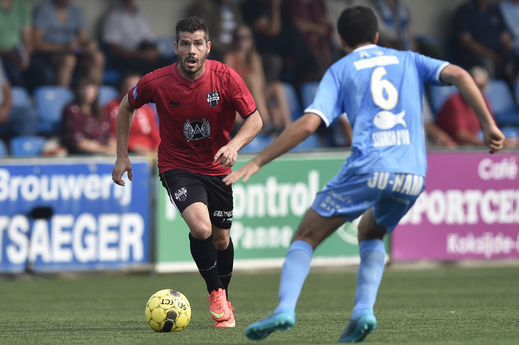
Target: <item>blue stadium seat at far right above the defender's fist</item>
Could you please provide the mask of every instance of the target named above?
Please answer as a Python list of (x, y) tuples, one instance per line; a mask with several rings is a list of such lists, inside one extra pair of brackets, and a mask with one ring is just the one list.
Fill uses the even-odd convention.
[(506, 82), (503, 80), (488, 81), (485, 96), (488, 98), (496, 122), (500, 126), (517, 125), (519, 123), (519, 111), (517, 111)]

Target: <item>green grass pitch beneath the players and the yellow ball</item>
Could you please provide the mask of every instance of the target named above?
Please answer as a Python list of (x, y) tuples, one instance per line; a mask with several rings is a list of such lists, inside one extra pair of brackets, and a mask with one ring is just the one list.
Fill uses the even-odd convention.
[[(352, 308), (356, 273), (312, 272), (288, 332), (264, 344), (335, 343)], [(252, 344), (249, 323), (276, 307), (279, 273), (235, 274), (229, 297), (236, 328), (213, 327), (198, 275), (0, 280), (2, 344)], [(193, 316), (181, 333), (155, 333), (144, 306), (172, 288), (190, 301)], [(519, 343), (519, 268), (424, 271), (388, 269), (371, 344)]]

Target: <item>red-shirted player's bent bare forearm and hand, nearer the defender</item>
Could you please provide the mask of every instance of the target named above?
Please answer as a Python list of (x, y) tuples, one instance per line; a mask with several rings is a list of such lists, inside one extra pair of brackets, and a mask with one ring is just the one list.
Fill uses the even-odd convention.
[(229, 141), (227, 145), (216, 152), (214, 155), (214, 163), (218, 162), (218, 159), (222, 157), (220, 160), (222, 167), (233, 166), (238, 159), (238, 151), (251, 142), (252, 139), (260, 133), (262, 127), (263, 121), (261, 120), (260, 113), (256, 110), (245, 119), (245, 122), (243, 122), (233, 140)]

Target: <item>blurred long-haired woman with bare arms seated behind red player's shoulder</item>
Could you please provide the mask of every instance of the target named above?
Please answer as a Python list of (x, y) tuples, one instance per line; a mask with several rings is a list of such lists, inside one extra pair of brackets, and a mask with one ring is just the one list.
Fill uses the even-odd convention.
[[(292, 123), (284, 85), (280, 81), (266, 83), (261, 56), (254, 48), (252, 31), (248, 26), (241, 25), (236, 29), (233, 50), (225, 55), (224, 63), (243, 78), (251, 91), (264, 123), (263, 132), (281, 132)], [(237, 116), (237, 121), (241, 123), (241, 117)]]

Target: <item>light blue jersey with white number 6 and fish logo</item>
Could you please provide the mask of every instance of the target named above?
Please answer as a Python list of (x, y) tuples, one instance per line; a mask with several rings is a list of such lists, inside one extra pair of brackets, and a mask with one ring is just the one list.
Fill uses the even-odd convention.
[(362, 46), (326, 71), (304, 112), (318, 114), (326, 126), (346, 112), (353, 139), (342, 172), (425, 177), (424, 82), (443, 85), (440, 73), (447, 65), (411, 51)]

